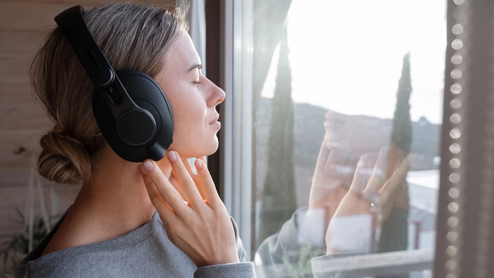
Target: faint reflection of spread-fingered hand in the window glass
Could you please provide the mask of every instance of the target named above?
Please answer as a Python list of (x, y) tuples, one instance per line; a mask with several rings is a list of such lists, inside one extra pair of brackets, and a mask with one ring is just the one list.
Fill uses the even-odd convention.
[[(338, 218), (350, 219), (348, 217), (356, 215), (372, 215), (371, 231), (373, 233), (375, 228), (380, 226), (382, 222), (389, 217), (391, 208), (399, 195), (398, 193), (405, 183), (405, 177), (410, 168), (410, 154), (404, 159), (397, 159), (394, 164), (393, 175), (387, 181), (385, 179), (384, 171), (386, 156), (387, 148), (383, 147), (379, 151), (377, 162), (375, 163), (373, 170), (369, 167), (370, 161), (368, 155), (363, 155), (361, 157), (350, 190), (348, 190), (348, 193), (342, 198), (326, 232), (328, 254), (342, 251), (335, 250), (331, 247), (331, 231), (335, 228), (338, 228), (340, 231), (350, 231), (352, 229), (352, 227), (350, 227), (352, 225), (349, 227), (335, 227), (335, 223), (348, 223), (338, 221)], [(369, 179), (367, 179), (368, 177)], [(374, 205), (374, 207), (372, 207), (372, 205)], [(357, 227), (358, 224), (353, 226)], [(368, 236), (371, 236), (371, 234)]]

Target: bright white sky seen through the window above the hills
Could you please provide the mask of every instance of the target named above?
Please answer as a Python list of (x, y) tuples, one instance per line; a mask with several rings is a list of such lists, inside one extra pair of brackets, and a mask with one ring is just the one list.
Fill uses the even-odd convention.
[[(446, 0), (292, 0), (287, 28), (293, 102), (393, 118), (410, 51), (412, 121), (442, 122)], [(265, 97), (274, 93), (278, 49)]]

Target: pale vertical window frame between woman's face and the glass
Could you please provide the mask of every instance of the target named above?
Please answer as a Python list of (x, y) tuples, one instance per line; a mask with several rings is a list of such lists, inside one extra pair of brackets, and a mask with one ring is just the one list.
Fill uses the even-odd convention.
[(223, 101), (220, 197), (251, 253), (252, 210), (252, 2), (220, 1), (220, 87)]

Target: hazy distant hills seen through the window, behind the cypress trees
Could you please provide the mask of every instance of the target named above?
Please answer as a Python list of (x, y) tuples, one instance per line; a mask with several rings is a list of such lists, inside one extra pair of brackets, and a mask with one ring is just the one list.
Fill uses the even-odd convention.
[[(303, 206), (304, 202), (305, 205), (307, 204), (308, 189), (310, 189), (317, 155), (325, 135), (324, 122), (328, 109), (306, 103), (295, 103), (293, 106), (295, 125), (292, 151), (294, 152), (295, 181), (299, 193), (297, 203)], [(256, 107), (256, 122), (253, 123), (256, 133), (254, 148), (257, 194), (262, 192), (266, 174), (271, 110), (271, 99), (260, 97)], [(340, 123), (331, 130), (333, 136), (349, 145), (355, 155), (377, 154), (381, 146), (389, 144), (391, 119), (333, 113)], [(431, 124), (423, 117), (418, 122), (412, 122), (411, 151), (420, 155), (412, 162), (410, 171), (438, 169), (433, 159), (439, 156), (440, 134), (441, 125)]]

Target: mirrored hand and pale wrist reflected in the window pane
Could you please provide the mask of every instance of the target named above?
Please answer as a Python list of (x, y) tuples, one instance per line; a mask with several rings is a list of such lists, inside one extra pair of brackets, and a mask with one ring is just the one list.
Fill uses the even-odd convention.
[[(347, 231), (347, 234), (344, 235), (348, 237), (349, 234), (355, 233), (353, 236), (355, 238), (347, 239), (359, 241), (359, 243), (349, 242), (348, 245), (353, 246), (352, 248), (356, 245), (369, 244), (368, 239), (373, 235), (375, 229), (389, 217), (391, 208), (399, 196), (398, 193), (403, 184), (406, 183), (405, 178), (410, 168), (411, 155), (399, 158), (394, 163), (393, 174), (386, 181), (385, 167), (388, 149), (381, 148), (373, 170), (369, 167), (367, 155), (361, 157), (350, 190), (341, 200), (329, 223), (326, 233), (327, 254), (355, 251), (335, 248), (334, 245), (343, 246), (345, 243), (337, 242), (337, 239), (331, 238), (334, 234), (343, 234)], [(366, 219), (369, 219), (369, 223), (357, 223)], [(345, 227), (341, 227), (342, 225)], [(369, 226), (366, 227), (365, 225)], [(361, 233), (367, 231), (369, 234), (360, 234), (356, 230), (360, 230)]]

